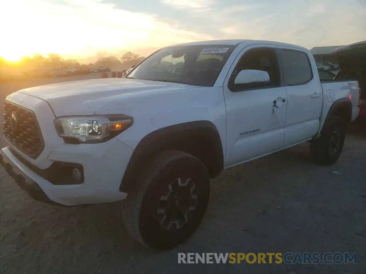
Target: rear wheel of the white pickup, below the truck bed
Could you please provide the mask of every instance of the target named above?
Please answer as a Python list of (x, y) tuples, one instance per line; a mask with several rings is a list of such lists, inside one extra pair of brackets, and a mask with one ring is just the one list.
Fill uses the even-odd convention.
[(326, 121), (321, 136), (310, 142), (310, 155), (316, 164), (332, 165), (341, 155), (346, 136), (346, 123), (340, 117)]

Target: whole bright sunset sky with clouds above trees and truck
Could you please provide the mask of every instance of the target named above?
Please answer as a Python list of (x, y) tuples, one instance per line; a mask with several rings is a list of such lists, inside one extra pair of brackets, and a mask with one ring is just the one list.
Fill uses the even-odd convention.
[(366, 0), (0, 0), (0, 56), (86, 57), (210, 39), (366, 39)]

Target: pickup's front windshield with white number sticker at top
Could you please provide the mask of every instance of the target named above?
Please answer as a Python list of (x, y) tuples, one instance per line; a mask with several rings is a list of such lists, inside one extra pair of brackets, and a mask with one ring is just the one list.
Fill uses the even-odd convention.
[(212, 87), (235, 47), (166, 47), (146, 58), (126, 78)]

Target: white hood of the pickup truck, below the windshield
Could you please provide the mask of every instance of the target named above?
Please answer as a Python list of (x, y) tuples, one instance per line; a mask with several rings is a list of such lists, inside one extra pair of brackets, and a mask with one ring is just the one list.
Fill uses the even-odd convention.
[(23, 94), (45, 100), (56, 117), (92, 115), (101, 107), (130, 96), (192, 88), (191, 85), (126, 78), (70, 81), (20, 90)]

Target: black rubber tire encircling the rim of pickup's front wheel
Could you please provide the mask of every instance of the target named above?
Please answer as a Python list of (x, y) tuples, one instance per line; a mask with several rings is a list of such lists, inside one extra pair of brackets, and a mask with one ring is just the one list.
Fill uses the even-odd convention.
[[(177, 178), (195, 183), (197, 206), (188, 221), (175, 231), (165, 230), (158, 220), (161, 193)], [(165, 151), (146, 165), (124, 203), (123, 221), (131, 236), (146, 247), (165, 250), (188, 239), (206, 212), (210, 181), (206, 167), (196, 157), (181, 151)]]

